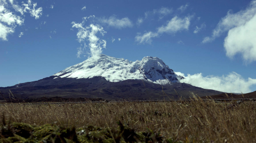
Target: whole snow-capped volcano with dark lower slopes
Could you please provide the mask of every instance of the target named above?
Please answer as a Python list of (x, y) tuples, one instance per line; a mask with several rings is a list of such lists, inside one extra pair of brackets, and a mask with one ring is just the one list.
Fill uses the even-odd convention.
[[(100, 55), (99, 60), (88, 58), (50, 77), (0, 88), (19, 99), (38, 97), (102, 98), (102, 99), (178, 99), (222, 94), (220, 91), (180, 83), (183, 77), (175, 74), (158, 57), (127, 61)], [(1, 99), (0, 99), (1, 100)]]

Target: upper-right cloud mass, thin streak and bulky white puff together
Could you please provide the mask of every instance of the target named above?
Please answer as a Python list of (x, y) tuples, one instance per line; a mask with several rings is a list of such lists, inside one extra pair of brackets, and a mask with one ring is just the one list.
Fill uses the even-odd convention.
[(233, 58), (241, 54), (244, 62), (256, 61), (256, 1), (251, 1), (245, 10), (237, 13), (228, 11), (217, 27), (213, 30), (211, 37), (205, 37), (202, 43), (208, 43), (228, 31), (224, 40), (226, 55)]

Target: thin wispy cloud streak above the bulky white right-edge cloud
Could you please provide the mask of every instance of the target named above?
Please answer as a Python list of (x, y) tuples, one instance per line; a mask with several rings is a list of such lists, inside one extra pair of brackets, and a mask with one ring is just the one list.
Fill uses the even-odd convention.
[(229, 31), (235, 27), (243, 26), (245, 23), (250, 21), (256, 14), (256, 1), (251, 1), (249, 6), (245, 10), (241, 10), (237, 13), (232, 13), (231, 10), (228, 11), (227, 15), (223, 17), (217, 27), (212, 31), (211, 37), (205, 37), (202, 43), (208, 43), (213, 41), (215, 38), (219, 37), (223, 32)]

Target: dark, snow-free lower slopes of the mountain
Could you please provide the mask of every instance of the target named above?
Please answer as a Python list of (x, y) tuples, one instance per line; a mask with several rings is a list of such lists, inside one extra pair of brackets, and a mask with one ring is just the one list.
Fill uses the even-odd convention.
[(5, 98), (9, 98), (9, 90), (11, 90), (15, 98), (19, 99), (59, 96), (65, 98), (82, 97), (109, 100), (157, 100), (189, 98), (192, 97), (191, 92), (198, 96), (222, 93), (180, 82), (159, 85), (146, 80), (109, 82), (102, 77), (90, 79), (53, 78), (54, 76), (51, 76), (38, 81), (20, 83), (12, 87), (1, 88), (0, 90)]

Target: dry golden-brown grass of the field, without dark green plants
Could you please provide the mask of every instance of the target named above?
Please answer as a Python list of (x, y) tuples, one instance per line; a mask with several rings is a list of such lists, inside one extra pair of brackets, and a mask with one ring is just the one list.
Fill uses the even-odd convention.
[[(255, 102), (151, 102), (0, 106), (12, 122), (65, 127), (117, 128), (120, 120), (137, 131), (150, 128), (184, 142), (256, 142)], [(1, 119), (2, 120), (2, 119)]]

